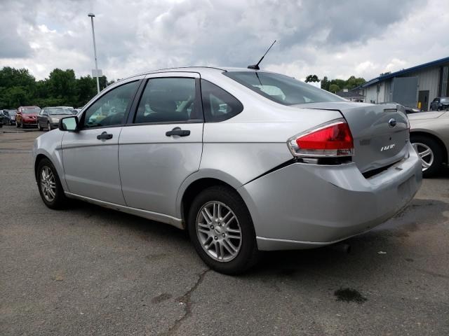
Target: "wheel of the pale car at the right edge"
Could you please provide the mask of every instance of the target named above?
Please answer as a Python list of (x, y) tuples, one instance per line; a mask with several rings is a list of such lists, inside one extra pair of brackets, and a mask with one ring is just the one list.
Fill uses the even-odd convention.
[(443, 148), (431, 137), (411, 135), (410, 142), (421, 159), (422, 176), (438, 174), (443, 165)]

